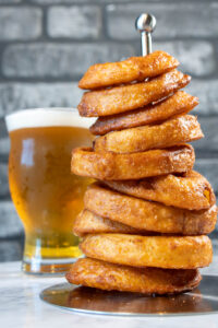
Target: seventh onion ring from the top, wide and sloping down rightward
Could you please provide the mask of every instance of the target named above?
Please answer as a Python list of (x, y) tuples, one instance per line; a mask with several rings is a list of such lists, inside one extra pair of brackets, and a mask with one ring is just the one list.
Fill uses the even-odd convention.
[(96, 183), (86, 190), (84, 206), (99, 216), (136, 230), (168, 234), (207, 234), (217, 220), (216, 204), (209, 210), (189, 211), (122, 195)]

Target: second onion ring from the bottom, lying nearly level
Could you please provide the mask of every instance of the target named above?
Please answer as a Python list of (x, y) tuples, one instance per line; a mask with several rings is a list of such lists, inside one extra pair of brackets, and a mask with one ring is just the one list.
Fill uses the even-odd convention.
[(95, 234), (87, 235), (80, 247), (87, 257), (131, 267), (195, 269), (213, 259), (207, 236)]

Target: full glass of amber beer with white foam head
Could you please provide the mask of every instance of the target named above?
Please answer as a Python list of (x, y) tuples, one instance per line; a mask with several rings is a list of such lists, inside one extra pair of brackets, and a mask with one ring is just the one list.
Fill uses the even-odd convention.
[(63, 273), (81, 256), (73, 222), (90, 179), (71, 173), (72, 150), (92, 145), (93, 119), (76, 109), (26, 109), (5, 118), (9, 185), (25, 230), (23, 271)]

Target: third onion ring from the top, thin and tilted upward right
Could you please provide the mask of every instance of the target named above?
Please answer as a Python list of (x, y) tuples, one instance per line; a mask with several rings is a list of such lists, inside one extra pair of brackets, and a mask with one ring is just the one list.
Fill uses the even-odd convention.
[(89, 130), (93, 134), (104, 136), (110, 131), (160, 122), (172, 116), (189, 113), (196, 105), (198, 105), (197, 97), (191, 96), (184, 91), (178, 91), (172, 96), (154, 105), (124, 114), (99, 117)]

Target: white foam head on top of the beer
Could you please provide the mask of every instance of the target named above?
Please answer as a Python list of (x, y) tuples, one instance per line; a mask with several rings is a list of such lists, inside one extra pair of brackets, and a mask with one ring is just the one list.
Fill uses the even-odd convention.
[(75, 108), (24, 109), (5, 117), (8, 131), (40, 127), (89, 128), (95, 118), (81, 117)]

